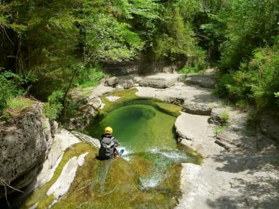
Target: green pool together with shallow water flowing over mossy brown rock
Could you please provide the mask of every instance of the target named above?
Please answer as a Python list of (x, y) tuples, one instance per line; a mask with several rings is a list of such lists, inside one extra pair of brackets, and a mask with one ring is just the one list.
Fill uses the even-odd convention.
[[(123, 92), (121, 92), (123, 93)], [(174, 121), (181, 107), (156, 100), (130, 98), (107, 102), (98, 118), (92, 121), (86, 134), (100, 138), (107, 126), (114, 129), (122, 157), (97, 160), (98, 148), (80, 143), (63, 155), (52, 182), (37, 189), (22, 208), (48, 208), (53, 201), (47, 189), (59, 177), (63, 165), (73, 156), (86, 155), (84, 165), (77, 170), (75, 180), (63, 198), (52, 208), (174, 208), (178, 203), (181, 162), (198, 163), (193, 150), (176, 144)], [(126, 93), (126, 95), (128, 95)]]

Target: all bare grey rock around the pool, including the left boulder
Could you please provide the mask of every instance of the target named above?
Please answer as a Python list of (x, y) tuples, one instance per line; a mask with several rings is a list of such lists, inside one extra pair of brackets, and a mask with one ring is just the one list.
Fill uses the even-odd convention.
[[(208, 83), (211, 83), (214, 75), (209, 73), (202, 75), (202, 79), (210, 79)], [(199, 75), (193, 77), (199, 80)], [(174, 124), (179, 141), (204, 157), (201, 165), (183, 164), (183, 195), (176, 208), (279, 208), (279, 154), (275, 142), (279, 141), (278, 121), (265, 114), (257, 132), (249, 134), (246, 130), (249, 111), (226, 106), (212, 95), (211, 88), (202, 87), (204, 80), (189, 84), (189, 77), (160, 73), (149, 77), (121, 77), (114, 80), (115, 85), (110, 81), (110, 85), (123, 88), (124, 84), (128, 85), (127, 80), (130, 87), (137, 88), (140, 97), (181, 105), (183, 112)], [(82, 128), (79, 124), (88, 123), (102, 105), (99, 96), (114, 91), (112, 86), (101, 84), (82, 94), (73, 92), (75, 100), (82, 98), (80, 117), (84, 117), (84, 113), (86, 116), (82, 122), (69, 123), (72, 126), (68, 128)], [(98, 140), (79, 132), (60, 130), (55, 134), (54, 125), (41, 117), (42, 107), (37, 102), (15, 117), (13, 123), (0, 127), (0, 147), (5, 150), (0, 156), (1, 183), (15, 188), (29, 185), (25, 187), (26, 194), (52, 178), (66, 148), (81, 141), (98, 146)], [(86, 111), (82, 111), (84, 109)], [(61, 182), (73, 177), (68, 174), (75, 174), (85, 155), (74, 157), (65, 165), (61, 181), (59, 177), (48, 191), (54, 195), (54, 202), (67, 192), (65, 188), (70, 182), (65, 181), (66, 185)], [(1, 192), (3, 196), (4, 189)]]

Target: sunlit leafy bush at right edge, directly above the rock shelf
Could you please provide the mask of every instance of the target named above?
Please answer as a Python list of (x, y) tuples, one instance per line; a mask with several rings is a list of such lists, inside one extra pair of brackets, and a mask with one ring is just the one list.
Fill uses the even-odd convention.
[(238, 71), (223, 75), (216, 92), (231, 100), (255, 102), (258, 109), (278, 104), (279, 52), (277, 45), (256, 49), (254, 58)]

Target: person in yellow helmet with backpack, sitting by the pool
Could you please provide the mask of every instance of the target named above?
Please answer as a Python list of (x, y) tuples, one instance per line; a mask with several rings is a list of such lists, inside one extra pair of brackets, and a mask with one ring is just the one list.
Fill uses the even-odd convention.
[(118, 146), (119, 141), (112, 137), (112, 127), (105, 127), (105, 133), (100, 137), (100, 149), (98, 159), (108, 160), (114, 157), (119, 157)]

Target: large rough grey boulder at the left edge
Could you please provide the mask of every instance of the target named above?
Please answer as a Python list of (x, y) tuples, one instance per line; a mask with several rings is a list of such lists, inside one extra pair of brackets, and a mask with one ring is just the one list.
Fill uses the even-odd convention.
[[(47, 140), (51, 140), (50, 123), (43, 121), (43, 103), (36, 102), (11, 118), (13, 123), (1, 125), (0, 178), (17, 189), (25, 187), (36, 176), (45, 160)], [(46, 137), (48, 136), (48, 137)], [(8, 193), (14, 189), (8, 189)], [(0, 187), (0, 196), (5, 195)]]

